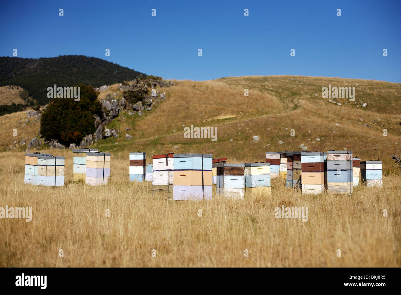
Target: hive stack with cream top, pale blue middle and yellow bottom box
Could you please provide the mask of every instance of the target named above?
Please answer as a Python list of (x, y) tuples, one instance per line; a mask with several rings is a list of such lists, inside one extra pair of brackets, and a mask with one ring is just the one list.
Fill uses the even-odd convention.
[(245, 193), (270, 195), (270, 163), (245, 163)]

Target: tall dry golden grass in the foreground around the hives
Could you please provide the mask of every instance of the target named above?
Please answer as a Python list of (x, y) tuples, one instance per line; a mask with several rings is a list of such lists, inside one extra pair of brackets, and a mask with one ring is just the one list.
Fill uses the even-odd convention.
[[(384, 177), (383, 189), (361, 186), (352, 195), (302, 195), (274, 179), (271, 197), (176, 202), (154, 199), (150, 183), (130, 183), (128, 156), (113, 154), (111, 183), (91, 187), (72, 182), (70, 151), (52, 152), (67, 155), (65, 187), (24, 185), (24, 153), (0, 154), (0, 207), (32, 207), (33, 215), (31, 222), (0, 219), (1, 267), (401, 264), (396, 174)], [(308, 207), (309, 220), (276, 219), (282, 205)]]

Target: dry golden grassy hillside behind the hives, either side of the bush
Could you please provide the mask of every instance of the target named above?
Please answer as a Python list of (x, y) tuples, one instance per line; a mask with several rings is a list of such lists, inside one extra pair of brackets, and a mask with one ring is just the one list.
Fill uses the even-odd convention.
[[(150, 155), (203, 152), (240, 162), (263, 161), (266, 151), (301, 150), (301, 144), (308, 151), (350, 149), (363, 160), (380, 157), (387, 164), (392, 163), (389, 157), (393, 153), (400, 154), (399, 83), (300, 76), (174, 83), (157, 89), (166, 92), (167, 99), (154, 110), (142, 116), (121, 112), (107, 125), (119, 129), (119, 137), (100, 140), (93, 147), (128, 153), (134, 144), (136, 151)], [(321, 89), (329, 84), (355, 86), (355, 102), (338, 99), (339, 106), (322, 98)], [(244, 89), (249, 89), (249, 97), (244, 96)], [(367, 106), (362, 107), (364, 103)], [(13, 145), (15, 138), (5, 136), (13, 128), (18, 128), (18, 142), (20, 136), (32, 138), (37, 134), (38, 121), (28, 118), (21, 127), (25, 119), (25, 112), (0, 117), (0, 124), (4, 124), (3, 149)], [(184, 138), (182, 125), (191, 124), (217, 127), (217, 141)], [(295, 136), (291, 136), (292, 129)], [(388, 136), (383, 136), (383, 129), (387, 129)], [(126, 139), (126, 134), (132, 139)], [(255, 142), (253, 136), (260, 140)]]

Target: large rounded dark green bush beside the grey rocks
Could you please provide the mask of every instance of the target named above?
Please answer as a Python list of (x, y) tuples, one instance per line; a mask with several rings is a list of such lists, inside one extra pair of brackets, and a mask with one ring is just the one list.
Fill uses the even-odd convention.
[(69, 146), (79, 144), (87, 135), (95, 132), (94, 115), (102, 116), (99, 95), (92, 86), (81, 87), (78, 102), (74, 98), (53, 98), (41, 116), (41, 134), (45, 140), (57, 140)]

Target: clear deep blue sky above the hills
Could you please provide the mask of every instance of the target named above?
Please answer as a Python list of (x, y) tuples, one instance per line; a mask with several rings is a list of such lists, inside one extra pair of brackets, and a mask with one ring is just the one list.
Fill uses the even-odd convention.
[(166, 79), (308, 75), (401, 82), (401, 1), (0, 5), (0, 56), (12, 56), (14, 48), (18, 57), (86, 55)]

